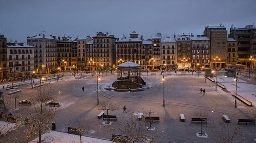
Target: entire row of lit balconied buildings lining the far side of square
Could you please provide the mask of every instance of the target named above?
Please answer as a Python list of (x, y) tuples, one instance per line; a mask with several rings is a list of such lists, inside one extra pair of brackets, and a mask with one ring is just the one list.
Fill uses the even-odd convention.
[(0, 78), (19, 77), (36, 73), (50, 73), (52, 69), (86, 70), (112, 68), (125, 61), (133, 61), (144, 69), (255, 68), (256, 28), (227, 29), (206, 26), (204, 35), (162, 36), (156, 33), (144, 39), (133, 31), (129, 37), (117, 38), (109, 33), (72, 38), (64, 36), (27, 37), (27, 44), (7, 42), (0, 36)]

